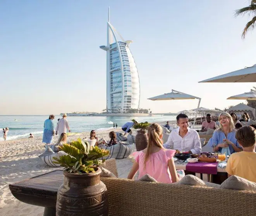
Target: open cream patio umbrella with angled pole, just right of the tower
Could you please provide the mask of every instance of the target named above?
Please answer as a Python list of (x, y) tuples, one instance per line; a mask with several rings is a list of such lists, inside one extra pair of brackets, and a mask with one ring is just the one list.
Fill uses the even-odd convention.
[[(198, 98), (196, 96), (192, 96), (190, 94), (186, 94), (186, 93), (183, 93), (180, 91), (176, 91), (174, 89), (172, 89), (172, 92), (170, 92), (170, 93), (161, 94), (161, 95), (155, 96), (153, 98), (148, 98), (148, 99), (151, 101), (199, 99), (198, 108), (199, 108), (200, 102), (201, 102), (201, 98)], [(196, 112), (196, 117), (197, 117), (197, 112)], [(196, 118), (194, 119), (193, 128), (194, 128), (195, 122), (196, 122)]]

